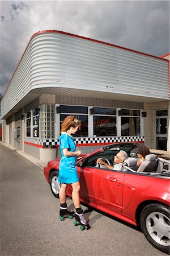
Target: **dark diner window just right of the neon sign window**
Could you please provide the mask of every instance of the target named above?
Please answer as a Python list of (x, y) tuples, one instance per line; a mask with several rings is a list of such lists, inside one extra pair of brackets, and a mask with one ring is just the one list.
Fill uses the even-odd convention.
[[(121, 109), (121, 115), (126, 115), (125, 117), (121, 117), (121, 135), (141, 135), (140, 110)], [(127, 115), (132, 116), (128, 117)]]

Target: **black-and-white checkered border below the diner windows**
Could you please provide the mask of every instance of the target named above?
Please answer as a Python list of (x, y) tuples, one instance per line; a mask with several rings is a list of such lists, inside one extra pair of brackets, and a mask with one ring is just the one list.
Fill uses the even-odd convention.
[[(38, 138), (25, 138), (25, 142), (41, 145), (44, 148), (53, 147), (59, 145), (59, 139), (38, 139)], [(74, 138), (77, 146), (93, 146), (96, 144), (110, 144), (110, 143), (118, 143), (118, 142), (145, 142), (145, 138), (143, 136), (133, 136), (133, 137), (93, 137), (93, 138)], [(35, 145), (35, 146), (36, 146)]]

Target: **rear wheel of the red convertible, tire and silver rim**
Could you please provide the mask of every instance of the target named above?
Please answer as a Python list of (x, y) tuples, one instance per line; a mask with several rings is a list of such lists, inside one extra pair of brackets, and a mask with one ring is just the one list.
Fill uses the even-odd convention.
[(147, 205), (141, 213), (140, 224), (143, 234), (156, 249), (169, 254), (170, 218), (169, 207), (163, 204)]

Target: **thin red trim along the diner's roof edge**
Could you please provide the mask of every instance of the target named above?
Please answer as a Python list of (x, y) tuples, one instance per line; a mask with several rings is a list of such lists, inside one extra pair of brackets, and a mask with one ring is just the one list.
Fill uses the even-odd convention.
[[(135, 53), (139, 53), (139, 54), (146, 55), (146, 56), (149, 56), (149, 57), (154, 57), (155, 59), (168, 61), (168, 60), (166, 60), (166, 59), (162, 59), (161, 57), (157, 57), (157, 56), (150, 55), (150, 54), (143, 53), (143, 52), (134, 51), (133, 49), (128, 49), (128, 48), (125, 48), (125, 47), (116, 46), (115, 44), (105, 43), (105, 42), (102, 42), (102, 41), (99, 41), (99, 40), (95, 40), (95, 39), (85, 38), (84, 36), (74, 35), (74, 34), (70, 34), (70, 33), (67, 33), (67, 32), (59, 31), (59, 30), (42, 30), (42, 31), (39, 31), (39, 32), (36, 32), (35, 34), (33, 34), (33, 35), (31, 36), (31, 39), (29, 39), (29, 42), (28, 42), (28, 44), (27, 44), (27, 47), (25, 48), (25, 50), (24, 50), (24, 52), (23, 52), (23, 55), (22, 55), (22, 57), (20, 58), (19, 63), (18, 63), (18, 65), (17, 65), (16, 68), (15, 68), (15, 71), (14, 71), (14, 74), (12, 75), (12, 77), (11, 77), (11, 80), (12, 80), (12, 78), (14, 77), (15, 72), (16, 72), (16, 69), (18, 68), (18, 66), (19, 66), (19, 64), (20, 64), (20, 61), (22, 60), (22, 58), (23, 58), (23, 56), (24, 56), (24, 53), (25, 53), (25, 51), (27, 50), (27, 48), (28, 48), (28, 46), (29, 46), (29, 43), (31, 42), (32, 38), (34, 38), (36, 35), (44, 34), (44, 33), (59, 33), (59, 34), (64, 34), (64, 35), (69, 35), (69, 36), (75, 36), (76, 38), (81, 38), (81, 39), (89, 40), (89, 41), (96, 42), (96, 43), (106, 44), (107, 46), (117, 47), (117, 48), (120, 48), (120, 49), (125, 49), (125, 50), (130, 51), (130, 52), (135, 52)], [(11, 82), (11, 80), (10, 80), (10, 82)], [(10, 82), (8, 83), (8, 86), (10, 85)], [(7, 86), (6, 90), (5, 90), (5, 93), (6, 93), (7, 89), (8, 89), (8, 86)], [(3, 96), (5, 96), (5, 93), (3, 94)], [(2, 97), (2, 98), (3, 98), (3, 97)]]

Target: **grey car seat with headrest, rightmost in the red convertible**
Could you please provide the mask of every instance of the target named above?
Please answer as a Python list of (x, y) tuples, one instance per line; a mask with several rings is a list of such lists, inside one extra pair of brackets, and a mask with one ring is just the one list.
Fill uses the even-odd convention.
[(145, 156), (145, 161), (141, 163), (137, 172), (156, 172), (158, 167), (158, 160), (156, 160), (155, 154), (149, 154)]

